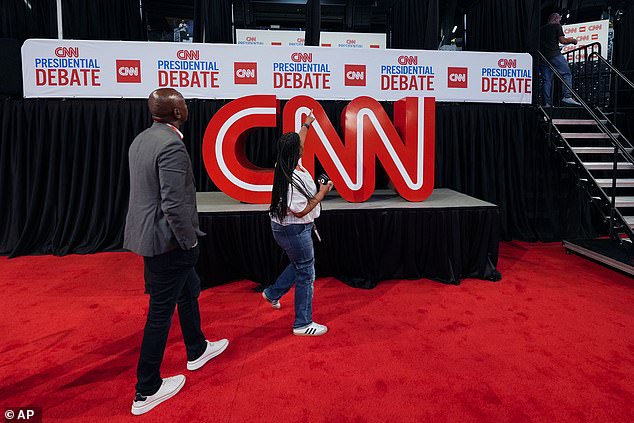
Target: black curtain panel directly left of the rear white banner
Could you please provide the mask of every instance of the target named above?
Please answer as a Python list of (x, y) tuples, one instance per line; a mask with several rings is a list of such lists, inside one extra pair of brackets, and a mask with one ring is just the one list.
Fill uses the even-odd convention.
[(231, 0), (195, 0), (194, 41), (227, 44), (233, 42)]

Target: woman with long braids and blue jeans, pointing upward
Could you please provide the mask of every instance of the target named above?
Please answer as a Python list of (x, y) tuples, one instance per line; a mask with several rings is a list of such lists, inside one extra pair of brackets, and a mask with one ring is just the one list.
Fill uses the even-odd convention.
[(314, 120), (311, 112), (299, 134), (288, 132), (278, 142), (269, 214), (273, 238), (288, 255), (290, 264), (275, 283), (262, 292), (264, 299), (279, 309), (280, 298), (296, 283), (293, 334), (298, 336), (320, 336), (328, 331), (326, 326), (313, 322), (315, 256), (311, 232), (313, 221), (320, 213), (317, 206), (332, 189), (332, 182), (320, 183), (317, 190), (300, 159), (306, 134)]

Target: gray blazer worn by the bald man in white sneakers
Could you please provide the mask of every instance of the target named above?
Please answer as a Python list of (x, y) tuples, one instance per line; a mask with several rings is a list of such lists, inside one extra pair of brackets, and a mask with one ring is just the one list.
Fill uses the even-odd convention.
[(145, 257), (189, 250), (205, 235), (198, 226), (196, 187), (185, 145), (154, 123), (130, 146), (130, 202), (123, 247)]

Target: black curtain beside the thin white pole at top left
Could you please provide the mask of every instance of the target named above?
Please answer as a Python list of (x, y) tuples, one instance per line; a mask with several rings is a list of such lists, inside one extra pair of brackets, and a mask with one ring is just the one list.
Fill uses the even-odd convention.
[(147, 41), (138, 0), (63, 0), (65, 39)]

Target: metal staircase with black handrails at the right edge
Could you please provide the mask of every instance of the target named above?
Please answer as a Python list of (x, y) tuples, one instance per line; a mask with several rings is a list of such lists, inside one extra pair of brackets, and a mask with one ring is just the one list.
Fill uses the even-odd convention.
[[(564, 81), (540, 53), (562, 85), (581, 104), (578, 117), (566, 116), (562, 108), (542, 108), (550, 145), (577, 177), (579, 186), (600, 211), (609, 239), (564, 241), (569, 251), (601, 261), (634, 275), (634, 147), (605, 113), (590, 106)], [(634, 84), (597, 53), (595, 58), (634, 88)], [(616, 104), (616, 102), (615, 102)], [(615, 106), (616, 107), (616, 106)], [(616, 116), (616, 110), (613, 116)]]

